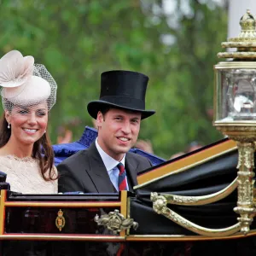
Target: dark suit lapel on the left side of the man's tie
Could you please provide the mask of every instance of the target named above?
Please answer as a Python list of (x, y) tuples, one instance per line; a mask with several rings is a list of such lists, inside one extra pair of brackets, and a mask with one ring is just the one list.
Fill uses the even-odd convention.
[(96, 144), (92, 143), (88, 148), (88, 160), (90, 166), (86, 166), (86, 172), (94, 183), (98, 193), (114, 192), (113, 183), (108, 176), (102, 157), (99, 154)]

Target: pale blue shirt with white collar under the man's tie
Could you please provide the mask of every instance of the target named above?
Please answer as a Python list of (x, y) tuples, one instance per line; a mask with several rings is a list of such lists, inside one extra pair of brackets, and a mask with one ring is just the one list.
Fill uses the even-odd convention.
[[(104, 166), (106, 167), (108, 171), (108, 176), (110, 177), (111, 182), (113, 183), (114, 188), (119, 191), (119, 168), (117, 165), (119, 164), (119, 161), (114, 160), (111, 156), (109, 156), (99, 145), (98, 140), (96, 138), (96, 148), (99, 152), (99, 154), (102, 157), (102, 161), (104, 163)], [(120, 161), (125, 166), (125, 155), (123, 159)], [(127, 174), (126, 174), (127, 175)], [(127, 176), (126, 176), (126, 187), (127, 190), (129, 190), (128, 183), (127, 183)]]

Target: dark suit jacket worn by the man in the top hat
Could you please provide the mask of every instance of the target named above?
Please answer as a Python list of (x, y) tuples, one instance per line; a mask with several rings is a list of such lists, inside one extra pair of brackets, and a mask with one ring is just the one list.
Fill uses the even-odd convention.
[[(137, 185), (137, 173), (151, 166), (150, 161), (139, 154), (125, 154), (125, 171), (130, 191)], [(63, 160), (57, 169), (60, 174), (59, 192), (116, 192), (95, 143)]]

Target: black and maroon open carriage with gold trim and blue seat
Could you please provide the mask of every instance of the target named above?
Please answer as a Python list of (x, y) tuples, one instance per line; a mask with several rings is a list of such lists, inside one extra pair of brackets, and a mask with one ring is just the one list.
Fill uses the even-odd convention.
[[(96, 130), (85, 127), (78, 142), (54, 146), (55, 162), (95, 138)], [(154, 163), (139, 173), (134, 193), (22, 195), (2, 180), (1, 255), (255, 253), (256, 224), (245, 235), (233, 210), (235, 142), (224, 138), (167, 161), (131, 150)]]

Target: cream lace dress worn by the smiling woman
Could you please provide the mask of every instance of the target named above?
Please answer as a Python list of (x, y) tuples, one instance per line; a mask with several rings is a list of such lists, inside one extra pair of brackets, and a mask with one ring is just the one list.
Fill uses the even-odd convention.
[[(12, 191), (22, 194), (57, 193), (57, 180), (45, 181), (39, 168), (39, 160), (32, 157), (0, 156), (0, 171), (7, 174), (6, 182), (10, 184)], [(55, 166), (54, 171), (57, 176)], [(46, 173), (47, 176), (48, 173)]]

